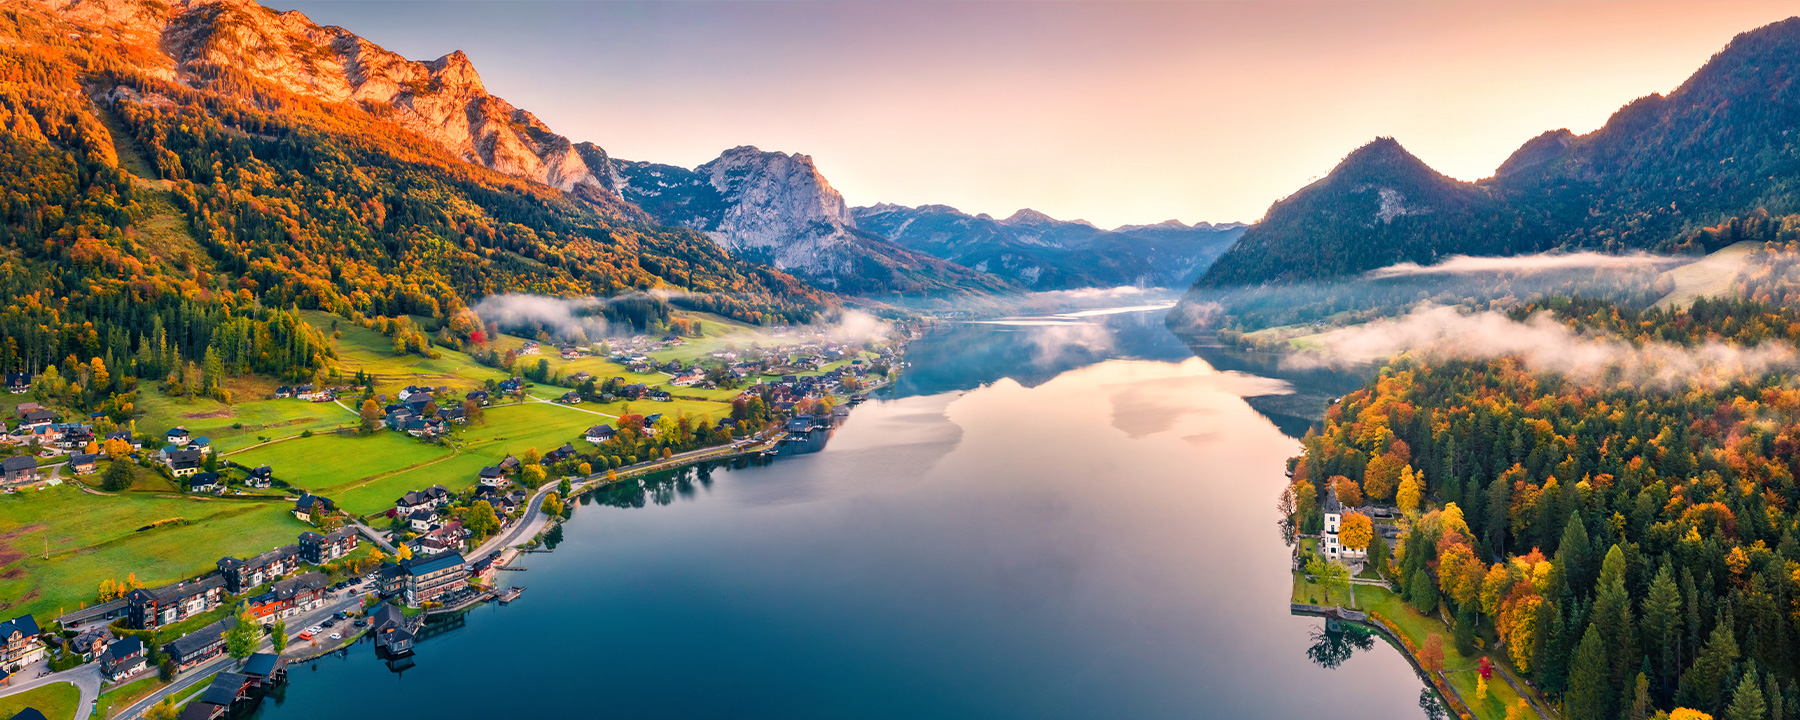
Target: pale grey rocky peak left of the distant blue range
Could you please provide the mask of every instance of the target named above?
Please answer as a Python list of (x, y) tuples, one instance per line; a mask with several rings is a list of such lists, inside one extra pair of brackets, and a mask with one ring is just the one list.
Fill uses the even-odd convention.
[(1010, 284), (860, 232), (806, 155), (733, 148), (695, 169), (617, 162), (626, 202), (706, 232), (734, 256), (844, 293), (940, 295)]

